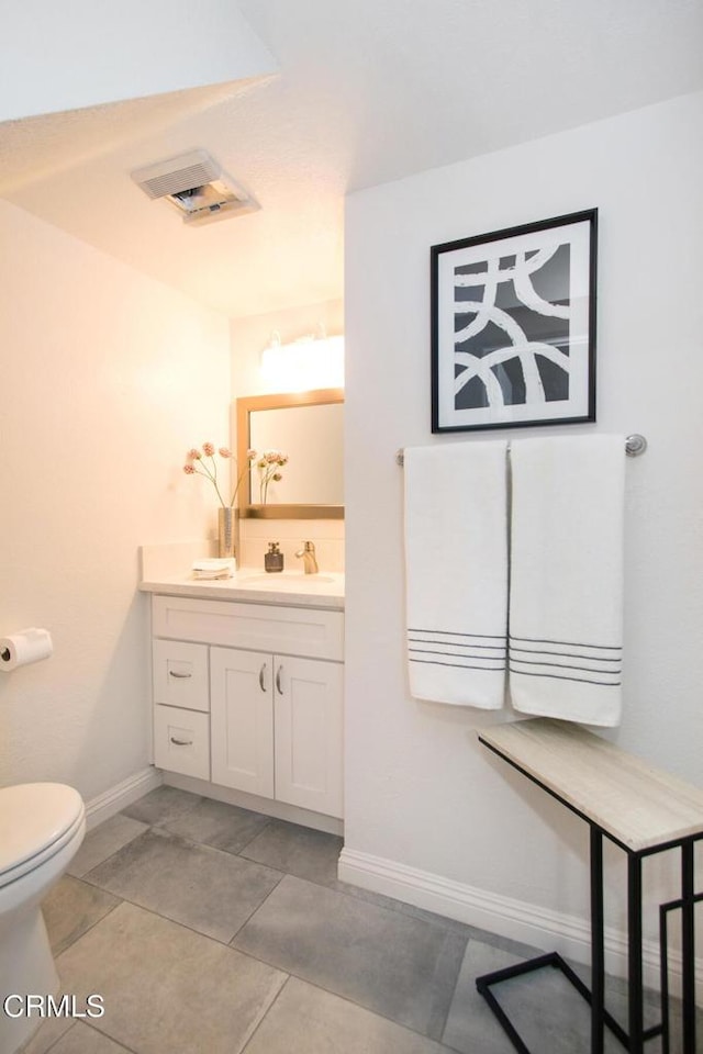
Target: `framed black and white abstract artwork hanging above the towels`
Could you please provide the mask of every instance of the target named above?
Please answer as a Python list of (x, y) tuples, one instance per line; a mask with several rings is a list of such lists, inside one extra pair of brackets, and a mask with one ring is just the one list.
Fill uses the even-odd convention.
[(595, 421), (595, 209), (432, 247), (432, 430)]

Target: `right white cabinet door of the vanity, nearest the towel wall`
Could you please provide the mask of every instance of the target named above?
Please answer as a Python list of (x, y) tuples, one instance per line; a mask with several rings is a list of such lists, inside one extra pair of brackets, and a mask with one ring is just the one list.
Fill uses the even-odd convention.
[(274, 658), (276, 797), (338, 817), (344, 814), (342, 671), (335, 662)]

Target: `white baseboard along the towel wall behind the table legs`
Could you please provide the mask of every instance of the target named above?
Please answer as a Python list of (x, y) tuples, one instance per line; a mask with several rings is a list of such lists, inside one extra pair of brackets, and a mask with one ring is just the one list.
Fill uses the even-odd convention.
[[(591, 932), (588, 921), (523, 900), (514, 900), (478, 889), (440, 875), (419, 871), (405, 864), (369, 853), (343, 849), (339, 878), (373, 893), (404, 900), (426, 911), (435, 911), (468, 926), (529, 944), (545, 952), (559, 952), (577, 963), (591, 961)], [(616, 977), (627, 976), (627, 938), (605, 929), (605, 968)], [(659, 988), (659, 949), (654, 941), (643, 945), (645, 985)], [(696, 1000), (703, 999), (703, 960), (696, 958)], [(680, 995), (681, 956), (669, 950), (669, 984)]]

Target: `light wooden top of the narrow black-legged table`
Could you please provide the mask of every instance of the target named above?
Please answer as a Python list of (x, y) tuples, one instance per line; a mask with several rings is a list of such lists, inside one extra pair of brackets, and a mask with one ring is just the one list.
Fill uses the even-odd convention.
[(479, 740), (634, 852), (703, 832), (703, 788), (579, 725), (511, 721)]

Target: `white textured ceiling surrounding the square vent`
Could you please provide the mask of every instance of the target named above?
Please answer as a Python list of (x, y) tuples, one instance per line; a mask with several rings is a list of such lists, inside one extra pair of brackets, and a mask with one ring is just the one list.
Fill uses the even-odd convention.
[[(703, 88), (702, 0), (238, 0), (258, 80), (0, 123), (0, 195), (237, 317), (343, 295), (344, 195)], [(260, 211), (130, 172), (208, 150)]]

